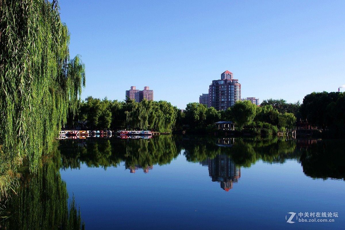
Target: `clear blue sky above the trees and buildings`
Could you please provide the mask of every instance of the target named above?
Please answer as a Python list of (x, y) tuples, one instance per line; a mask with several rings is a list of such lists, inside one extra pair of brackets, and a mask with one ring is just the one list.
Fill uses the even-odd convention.
[[(345, 84), (345, 1), (60, 0), (82, 98), (124, 100), (131, 86), (180, 109), (226, 70), (242, 98), (303, 101)], [(341, 89), (344, 91), (344, 89)]]

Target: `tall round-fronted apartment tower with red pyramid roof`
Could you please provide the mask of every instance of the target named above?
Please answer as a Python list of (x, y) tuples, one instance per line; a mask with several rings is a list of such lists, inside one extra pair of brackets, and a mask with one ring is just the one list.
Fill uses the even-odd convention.
[(208, 107), (216, 110), (226, 110), (241, 100), (241, 84), (234, 79), (233, 73), (225, 71), (220, 80), (213, 80), (208, 90)]

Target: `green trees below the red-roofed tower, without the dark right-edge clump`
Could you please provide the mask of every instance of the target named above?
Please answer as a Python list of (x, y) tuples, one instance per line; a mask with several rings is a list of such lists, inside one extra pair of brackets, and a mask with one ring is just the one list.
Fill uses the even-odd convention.
[(221, 120), (234, 121), (238, 131), (272, 134), (280, 128), (293, 128), (296, 117), (290, 112), (279, 112), (271, 104), (258, 107), (250, 101), (238, 101), (225, 111), (217, 111), (194, 102), (187, 104), (180, 122), (188, 124), (191, 129), (200, 130)]

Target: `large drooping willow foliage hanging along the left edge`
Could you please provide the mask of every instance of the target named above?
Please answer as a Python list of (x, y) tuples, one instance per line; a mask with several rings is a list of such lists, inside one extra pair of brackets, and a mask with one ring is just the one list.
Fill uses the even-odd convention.
[(56, 0), (0, 0), (0, 145), (31, 170), (85, 87), (85, 66), (70, 59), (58, 9)]

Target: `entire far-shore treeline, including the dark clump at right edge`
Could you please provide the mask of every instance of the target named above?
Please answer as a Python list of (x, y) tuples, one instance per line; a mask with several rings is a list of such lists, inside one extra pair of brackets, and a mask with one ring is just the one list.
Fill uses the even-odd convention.
[(217, 111), (197, 102), (180, 110), (166, 101), (111, 101), (89, 96), (80, 102), (76, 115), (69, 117), (68, 126), (207, 134), (216, 131), (215, 122), (232, 121), (237, 134), (258, 135), (294, 129), (296, 122), (303, 121), (324, 136), (344, 137), (344, 97), (342, 92), (313, 92), (302, 104), (284, 99), (264, 100), (260, 106), (238, 101), (227, 110)]

